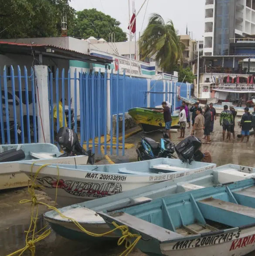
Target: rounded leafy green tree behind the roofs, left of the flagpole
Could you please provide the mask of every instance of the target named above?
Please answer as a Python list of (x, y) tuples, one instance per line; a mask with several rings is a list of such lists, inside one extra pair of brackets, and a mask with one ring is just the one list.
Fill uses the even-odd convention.
[(109, 40), (109, 33), (115, 33), (115, 42), (127, 41), (126, 33), (119, 27), (120, 22), (101, 11), (85, 9), (76, 13), (75, 27), (70, 35), (87, 39), (91, 36)]

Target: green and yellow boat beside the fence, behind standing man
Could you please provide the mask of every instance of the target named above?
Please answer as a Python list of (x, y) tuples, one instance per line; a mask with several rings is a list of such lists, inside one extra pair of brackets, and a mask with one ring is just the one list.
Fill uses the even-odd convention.
[[(160, 129), (159, 123), (162, 123), (165, 127), (165, 122), (163, 118), (163, 113), (153, 111), (152, 107), (135, 107), (129, 109), (129, 115), (136, 121), (143, 131), (150, 132)], [(162, 109), (162, 108), (159, 108)], [(178, 128), (179, 115), (172, 114), (172, 125), (171, 128)]]

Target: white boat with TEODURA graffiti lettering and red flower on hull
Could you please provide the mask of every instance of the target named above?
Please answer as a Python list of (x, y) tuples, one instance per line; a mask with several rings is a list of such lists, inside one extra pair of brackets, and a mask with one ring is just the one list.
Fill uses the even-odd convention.
[[(36, 163), (31, 168), (31, 163), (20, 163), (20, 170), (30, 177), (31, 172), (34, 176), (41, 166), (41, 163)], [(189, 176), (214, 167), (216, 167), (214, 163), (193, 161), (189, 164), (179, 159), (168, 158), (114, 165), (52, 164), (41, 169), (36, 182), (44, 186), (44, 191), (52, 199), (55, 199), (58, 184), (57, 203), (67, 206), (149, 186), (164, 180)]]

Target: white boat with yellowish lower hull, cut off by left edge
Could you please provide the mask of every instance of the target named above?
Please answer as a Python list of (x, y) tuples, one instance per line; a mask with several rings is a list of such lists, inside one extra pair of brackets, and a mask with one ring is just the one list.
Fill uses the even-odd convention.
[[(14, 187), (25, 187), (29, 184), (25, 173), (19, 169), (19, 161), (24, 163), (62, 163), (62, 164), (87, 164), (88, 156), (61, 157), (56, 145), (50, 143), (30, 143), (15, 145), (0, 145), (0, 190)], [(8, 158), (7, 158), (8, 156)], [(3, 162), (4, 159), (8, 162)]]

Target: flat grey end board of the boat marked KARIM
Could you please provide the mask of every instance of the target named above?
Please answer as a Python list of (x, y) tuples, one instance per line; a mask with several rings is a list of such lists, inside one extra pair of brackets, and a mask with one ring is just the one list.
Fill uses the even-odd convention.
[[(154, 225), (148, 221), (144, 221), (140, 218), (136, 218), (133, 215), (124, 212), (112, 212), (105, 214), (100, 212), (100, 215), (109, 215), (114, 221), (120, 221), (122, 225), (127, 225), (130, 229), (137, 230), (140, 234), (148, 235), (160, 242), (168, 241), (174, 238), (183, 238), (182, 235), (172, 232), (166, 228), (161, 228), (158, 225)], [(146, 237), (143, 236), (146, 239)]]

